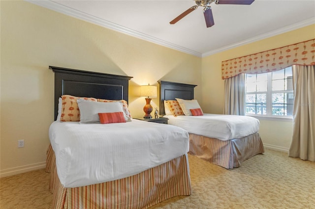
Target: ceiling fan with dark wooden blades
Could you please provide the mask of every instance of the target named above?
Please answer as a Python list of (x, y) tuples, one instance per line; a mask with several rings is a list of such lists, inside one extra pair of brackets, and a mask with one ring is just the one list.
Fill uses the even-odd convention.
[(209, 6), (212, 2), (215, 2), (216, 4), (252, 4), (254, 0), (195, 0), (196, 6), (190, 7), (188, 10), (180, 14), (177, 18), (169, 22), (170, 24), (175, 24), (178, 21), (180, 21), (182, 18), (184, 18), (186, 15), (188, 15), (190, 12), (196, 10), (198, 6), (205, 7), (203, 9), (203, 14), (205, 16), (206, 25), (207, 27), (211, 27), (215, 25), (215, 22), (213, 20), (212, 10), (211, 6)]

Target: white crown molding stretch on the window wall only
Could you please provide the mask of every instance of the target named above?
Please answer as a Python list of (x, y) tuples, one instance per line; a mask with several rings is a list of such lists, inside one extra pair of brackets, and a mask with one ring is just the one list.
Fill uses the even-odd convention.
[(305, 27), (305, 26), (310, 26), (313, 24), (315, 24), (315, 19), (311, 18), (311, 19), (308, 19), (308, 20), (305, 20), (305, 21), (302, 21), (302, 22), (299, 22), (299, 23), (296, 23), (296, 24), (293, 24), (290, 26), (282, 27), (282, 28), (279, 28), (277, 30), (261, 34), (259, 36), (252, 37), (250, 39), (246, 39), (246, 40), (237, 42), (235, 44), (227, 45), (225, 47), (221, 47), (221, 48), (213, 50), (213, 51), (205, 52), (202, 54), (202, 57), (209, 56), (209, 55), (219, 53), (219, 52), (223, 52), (226, 50), (230, 50), (230, 49), (233, 49), (236, 47), (240, 47), (242, 45), (250, 44), (252, 42), (260, 41), (260, 40), (265, 39), (265, 38), (270, 38), (272, 36), (276, 36), (276, 35), (279, 35), (279, 34), (282, 34), (285, 32), (289, 32), (291, 30), (295, 30), (295, 29)]

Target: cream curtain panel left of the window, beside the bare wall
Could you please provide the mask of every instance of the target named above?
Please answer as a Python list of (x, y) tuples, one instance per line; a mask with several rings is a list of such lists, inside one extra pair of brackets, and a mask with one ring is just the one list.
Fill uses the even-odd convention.
[(245, 115), (245, 74), (225, 79), (225, 104), (223, 114)]

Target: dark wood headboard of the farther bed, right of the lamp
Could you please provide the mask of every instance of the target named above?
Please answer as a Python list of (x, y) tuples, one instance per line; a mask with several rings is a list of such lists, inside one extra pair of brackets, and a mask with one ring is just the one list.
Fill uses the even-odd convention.
[(159, 114), (164, 115), (164, 100), (175, 100), (180, 98), (183, 100), (193, 99), (193, 90), (197, 85), (187, 83), (175, 83), (159, 80)]

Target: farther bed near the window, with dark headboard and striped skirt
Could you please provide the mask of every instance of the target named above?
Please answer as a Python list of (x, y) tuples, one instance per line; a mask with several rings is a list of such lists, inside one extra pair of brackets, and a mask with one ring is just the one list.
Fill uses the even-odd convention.
[[(165, 101), (176, 101), (176, 98), (192, 101), (196, 85), (162, 80), (158, 82), (160, 115), (168, 118), (168, 124), (179, 126), (189, 132), (190, 155), (232, 169), (240, 167), (243, 161), (264, 153), (257, 119), (248, 116), (214, 114), (174, 116), (169, 112), (165, 113), (164, 104), (165, 106), (168, 104)], [(207, 121), (209, 118), (214, 121)], [(235, 123), (232, 123), (232, 120)], [(213, 131), (208, 131), (209, 127), (214, 128)]]

